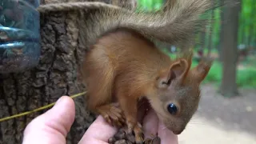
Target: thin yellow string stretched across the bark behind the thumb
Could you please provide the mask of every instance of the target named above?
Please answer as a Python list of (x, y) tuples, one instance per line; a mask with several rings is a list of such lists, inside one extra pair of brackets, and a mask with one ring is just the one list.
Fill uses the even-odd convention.
[[(79, 93), (79, 94), (74, 94), (74, 95), (70, 96), (70, 98), (77, 98), (77, 97), (79, 97), (79, 96), (82, 96), (83, 94), (86, 94), (86, 92), (82, 92), (82, 93)], [(49, 108), (49, 107), (51, 107), (51, 106), (54, 106), (55, 103), (56, 103), (56, 102), (53, 102), (53, 103), (50, 103), (49, 105), (39, 107), (38, 109), (26, 111), (26, 112), (21, 113), (21, 114), (15, 114), (15, 115), (12, 115), (12, 116), (9, 116), (9, 117), (6, 117), (6, 118), (1, 118), (1, 119), (0, 119), (0, 122), (7, 121), (7, 120), (10, 120), (10, 119), (13, 119), (13, 118), (22, 117), (22, 116), (24, 116), (24, 115), (37, 112), (37, 111), (39, 111), (39, 110), (47, 109), (47, 108)]]

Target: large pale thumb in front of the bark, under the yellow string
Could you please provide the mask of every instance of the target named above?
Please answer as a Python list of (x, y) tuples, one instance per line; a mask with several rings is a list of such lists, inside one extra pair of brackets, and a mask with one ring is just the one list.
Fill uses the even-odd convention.
[[(53, 108), (34, 118), (26, 126), (23, 144), (64, 144), (66, 134), (74, 122), (75, 108), (72, 98), (63, 96)], [(39, 139), (39, 140), (38, 140)]]

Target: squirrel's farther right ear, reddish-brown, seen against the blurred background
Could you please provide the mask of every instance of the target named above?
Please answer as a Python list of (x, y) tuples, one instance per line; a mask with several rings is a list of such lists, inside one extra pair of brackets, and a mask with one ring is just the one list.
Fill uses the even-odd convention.
[(203, 58), (202, 61), (199, 62), (198, 66), (194, 67), (193, 70), (191, 70), (197, 82), (200, 83), (204, 80), (204, 78), (206, 78), (206, 75), (209, 73), (212, 63), (213, 59)]

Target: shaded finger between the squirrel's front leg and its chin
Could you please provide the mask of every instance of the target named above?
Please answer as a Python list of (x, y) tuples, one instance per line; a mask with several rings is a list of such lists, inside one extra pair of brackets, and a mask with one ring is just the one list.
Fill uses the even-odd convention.
[(143, 119), (143, 131), (145, 138), (154, 138), (158, 133), (158, 116), (154, 110), (149, 110)]

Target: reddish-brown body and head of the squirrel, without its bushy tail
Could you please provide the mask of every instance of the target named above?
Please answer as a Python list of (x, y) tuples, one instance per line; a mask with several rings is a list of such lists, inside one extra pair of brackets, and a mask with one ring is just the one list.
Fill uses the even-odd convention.
[[(132, 30), (105, 34), (84, 61), (89, 109), (117, 125), (125, 118), (136, 142), (142, 142), (137, 103), (145, 97), (166, 127), (180, 134), (198, 108), (199, 85), (211, 66), (202, 61), (190, 70), (191, 58), (186, 54), (171, 60), (153, 42)], [(113, 105), (113, 98), (121, 109)]]

